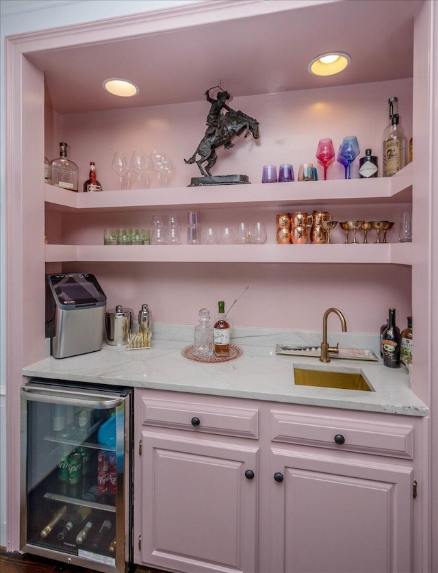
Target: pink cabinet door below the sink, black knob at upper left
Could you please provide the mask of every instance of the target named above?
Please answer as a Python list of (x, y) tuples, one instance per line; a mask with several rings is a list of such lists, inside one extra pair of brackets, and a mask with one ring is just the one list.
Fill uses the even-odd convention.
[(271, 471), (270, 571), (411, 572), (412, 468), (273, 450)]

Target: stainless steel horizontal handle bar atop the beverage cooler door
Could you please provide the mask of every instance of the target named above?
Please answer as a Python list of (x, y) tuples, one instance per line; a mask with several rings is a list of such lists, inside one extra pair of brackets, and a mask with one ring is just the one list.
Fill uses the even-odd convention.
[(30, 384), (21, 387), (21, 397), (31, 402), (47, 402), (49, 404), (66, 404), (83, 408), (108, 409), (123, 404), (125, 398), (108, 396), (99, 392), (88, 390), (78, 391), (70, 388), (53, 386), (33, 386)]

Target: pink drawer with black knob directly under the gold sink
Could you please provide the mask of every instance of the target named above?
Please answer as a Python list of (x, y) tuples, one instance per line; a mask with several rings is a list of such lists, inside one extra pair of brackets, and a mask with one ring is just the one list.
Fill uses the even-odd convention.
[[(413, 426), (271, 411), (271, 440), (413, 458)], [(335, 440), (336, 438), (336, 440)]]

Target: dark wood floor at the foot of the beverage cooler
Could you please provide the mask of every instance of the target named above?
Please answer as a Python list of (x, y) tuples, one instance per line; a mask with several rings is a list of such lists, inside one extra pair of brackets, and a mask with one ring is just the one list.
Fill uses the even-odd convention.
[[(1, 573), (96, 573), (94, 569), (66, 565), (59, 561), (42, 559), (33, 555), (19, 552), (6, 552), (0, 547)], [(135, 573), (166, 573), (158, 569), (137, 567)]]

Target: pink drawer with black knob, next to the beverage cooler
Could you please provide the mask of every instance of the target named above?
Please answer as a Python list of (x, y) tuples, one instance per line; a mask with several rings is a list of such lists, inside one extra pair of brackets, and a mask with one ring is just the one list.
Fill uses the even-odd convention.
[(198, 432), (259, 437), (258, 409), (142, 398), (142, 424)]

